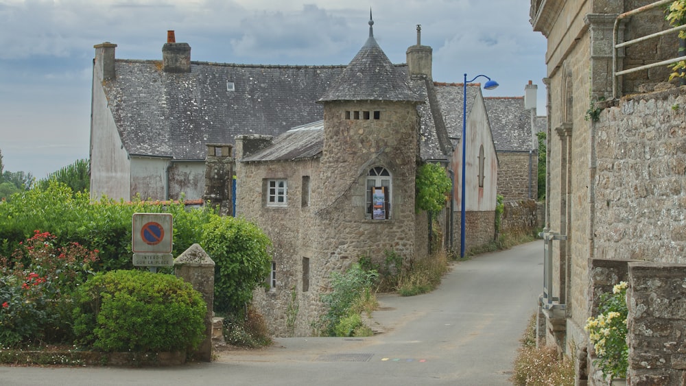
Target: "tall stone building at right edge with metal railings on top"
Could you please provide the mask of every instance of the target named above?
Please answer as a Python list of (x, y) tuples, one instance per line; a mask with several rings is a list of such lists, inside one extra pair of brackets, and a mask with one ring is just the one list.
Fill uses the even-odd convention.
[(686, 91), (665, 83), (670, 71), (659, 63), (677, 56), (678, 42), (673, 33), (613, 42), (667, 28), (667, 1), (627, 17), (650, 3), (531, 1), (534, 31), (548, 40), (539, 333), (575, 359), (578, 385), (606, 384), (584, 325), (619, 280), (629, 283), (628, 383), (686, 380)]

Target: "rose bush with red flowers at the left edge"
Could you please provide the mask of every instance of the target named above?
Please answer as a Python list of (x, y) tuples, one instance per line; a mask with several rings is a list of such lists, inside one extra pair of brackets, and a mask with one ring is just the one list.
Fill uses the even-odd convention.
[(0, 346), (72, 339), (73, 292), (91, 273), (98, 251), (78, 243), (58, 248), (54, 241), (36, 230), (11, 258), (0, 258)]

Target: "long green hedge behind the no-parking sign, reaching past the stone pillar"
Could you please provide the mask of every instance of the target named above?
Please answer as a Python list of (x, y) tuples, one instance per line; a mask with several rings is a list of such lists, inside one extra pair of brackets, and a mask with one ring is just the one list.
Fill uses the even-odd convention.
[(35, 230), (50, 232), (56, 245), (80, 243), (99, 250), (95, 272), (134, 269), (131, 232), (134, 213), (171, 213), (178, 256), (193, 243), (215, 261), (215, 311), (240, 313), (252, 290), (269, 274), (270, 241), (254, 224), (220, 217), (210, 207), (187, 210), (183, 204), (116, 202), (103, 197), (91, 203), (88, 193), (73, 193), (51, 181), (45, 190), (12, 195), (0, 204), (0, 256), (11, 256)]

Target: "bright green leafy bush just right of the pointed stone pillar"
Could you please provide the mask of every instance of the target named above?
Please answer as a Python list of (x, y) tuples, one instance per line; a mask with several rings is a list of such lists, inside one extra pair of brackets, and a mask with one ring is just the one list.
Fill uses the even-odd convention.
[(215, 216), (202, 227), (200, 245), (215, 262), (215, 311), (243, 316), (252, 291), (269, 275), (271, 241), (244, 219)]

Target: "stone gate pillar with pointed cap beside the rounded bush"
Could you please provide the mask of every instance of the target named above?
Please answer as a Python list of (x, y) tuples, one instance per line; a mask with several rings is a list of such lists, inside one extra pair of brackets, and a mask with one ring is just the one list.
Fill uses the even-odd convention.
[(193, 353), (200, 361), (212, 361), (212, 317), (214, 303), (214, 267), (215, 263), (198, 244), (193, 244), (174, 259), (174, 274), (177, 278), (191, 283), (196, 291), (202, 294), (207, 304), (205, 315), (205, 339)]

